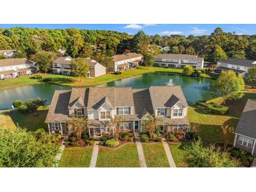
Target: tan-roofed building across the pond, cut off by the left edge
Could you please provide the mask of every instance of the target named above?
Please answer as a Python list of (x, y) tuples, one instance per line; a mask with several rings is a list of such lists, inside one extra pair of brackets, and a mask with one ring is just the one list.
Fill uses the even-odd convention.
[(34, 62), (26, 58), (0, 60), (0, 79), (27, 76), (37, 72)]

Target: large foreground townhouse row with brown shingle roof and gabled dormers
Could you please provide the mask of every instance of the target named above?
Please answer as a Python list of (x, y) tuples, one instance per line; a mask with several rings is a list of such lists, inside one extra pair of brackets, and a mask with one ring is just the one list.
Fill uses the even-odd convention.
[(114, 134), (111, 118), (121, 116), (120, 130), (142, 132), (149, 114), (161, 118), (161, 131), (187, 128), (188, 104), (180, 86), (151, 86), (148, 89), (90, 87), (55, 90), (46, 117), (49, 132), (69, 134), (72, 116), (88, 118), (89, 135)]

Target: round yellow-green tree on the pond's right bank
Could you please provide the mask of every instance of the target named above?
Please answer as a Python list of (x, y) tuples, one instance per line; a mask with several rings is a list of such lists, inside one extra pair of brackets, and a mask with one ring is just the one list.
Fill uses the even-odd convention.
[(232, 70), (223, 71), (213, 85), (213, 94), (223, 97), (225, 103), (226, 100), (237, 100), (243, 97), (244, 88), (245, 82), (240, 75), (236, 76)]

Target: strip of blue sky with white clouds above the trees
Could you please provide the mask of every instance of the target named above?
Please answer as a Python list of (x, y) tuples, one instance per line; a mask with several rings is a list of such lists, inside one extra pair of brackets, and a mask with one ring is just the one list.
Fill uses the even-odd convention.
[(188, 36), (189, 34), (193, 34), (195, 36), (210, 34), (216, 27), (221, 27), (224, 32), (236, 32), (236, 34), (256, 34), (256, 25), (249, 24), (0, 24), (0, 27), (101, 29), (127, 32), (128, 34), (136, 34), (138, 31), (143, 30), (149, 35), (182, 34), (185, 36)]

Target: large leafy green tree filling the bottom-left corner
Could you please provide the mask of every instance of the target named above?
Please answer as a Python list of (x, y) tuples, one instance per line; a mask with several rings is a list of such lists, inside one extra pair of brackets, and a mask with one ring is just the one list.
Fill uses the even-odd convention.
[(60, 153), (60, 144), (53, 137), (44, 130), (0, 128), (0, 167), (53, 167)]

